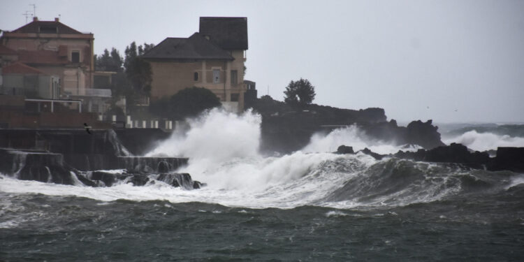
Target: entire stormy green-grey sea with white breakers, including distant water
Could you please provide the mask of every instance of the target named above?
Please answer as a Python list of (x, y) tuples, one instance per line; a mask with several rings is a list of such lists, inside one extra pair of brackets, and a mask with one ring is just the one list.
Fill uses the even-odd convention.
[[(147, 156), (205, 183), (86, 187), (0, 175), (0, 261), (523, 261), (524, 174), (367, 154), (417, 150), (356, 126), (259, 152), (261, 117), (212, 110)], [(524, 147), (522, 124), (449, 124), (442, 141)], [(124, 170), (108, 170), (119, 173)]]

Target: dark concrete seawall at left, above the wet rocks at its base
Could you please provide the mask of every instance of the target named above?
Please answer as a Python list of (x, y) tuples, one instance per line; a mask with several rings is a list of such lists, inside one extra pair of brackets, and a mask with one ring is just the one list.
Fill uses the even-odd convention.
[(11, 155), (31, 150), (60, 154), (66, 166), (77, 170), (128, 168), (133, 163), (133, 168), (141, 165), (152, 170), (173, 170), (187, 163), (187, 159), (129, 158), (145, 154), (169, 136), (161, 129), (106, 129), (92, 130), (90, 134), (85, 129), (0, 129), (0, 148), (10, 149), (4, 150), (5, 156), (6, 152)]

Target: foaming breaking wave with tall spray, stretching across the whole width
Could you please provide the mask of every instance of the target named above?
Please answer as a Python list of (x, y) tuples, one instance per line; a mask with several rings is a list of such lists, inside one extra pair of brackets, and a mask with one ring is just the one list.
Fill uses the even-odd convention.
[(190, 173), (207, 187), (173, 188), (165, 183), (133, 187), (78, 187), (15, 180), (0, 175), (0, 191), (13, 194), (74, 195), (100, 201), (165, 200), (203, 202), (247, 208), (295, 208), (302, 205), (333, 208), (402, 206), (469, 196), (499, 194), (521, 187), (523, 175), (493, 175), (463, 170), (451, 164), (420, 163), (366, 154), (333, 154), (340, 144), (356, 150), (368, 147), (387, 153), (398, 147), (372, 141), (355, 126), (327, 136), (316, 134), (303, 150), (281, 157), (259, 154), (261, 117), (253, 112), (235, 115), (210, 110), (189, 121), (185, 133), (173, 133), (147, 156), (189, 157), (180, 172)]

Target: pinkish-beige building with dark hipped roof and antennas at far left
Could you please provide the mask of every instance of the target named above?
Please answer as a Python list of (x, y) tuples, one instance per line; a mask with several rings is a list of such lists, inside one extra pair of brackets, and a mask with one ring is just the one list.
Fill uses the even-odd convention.
[(93, 41), (93, 34), (76, 31), (58, 18), (34, 17), (19, 29), (4, 31), (0, 45), (16, 52), (13, 60), (59, 79), (61, 95), (85, 95), (93, 88)]

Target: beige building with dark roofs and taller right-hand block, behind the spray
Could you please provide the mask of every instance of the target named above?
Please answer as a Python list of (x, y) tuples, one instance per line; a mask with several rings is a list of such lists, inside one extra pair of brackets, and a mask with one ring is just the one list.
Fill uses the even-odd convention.
[(205, 87), (225, 108), (243, 110), (246, 50), (246, 17), (201, 17), (198, 33), (166, 38), (143, 55), (152, 68), (151, 99)]

